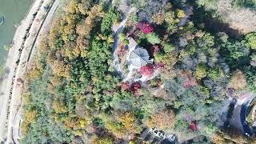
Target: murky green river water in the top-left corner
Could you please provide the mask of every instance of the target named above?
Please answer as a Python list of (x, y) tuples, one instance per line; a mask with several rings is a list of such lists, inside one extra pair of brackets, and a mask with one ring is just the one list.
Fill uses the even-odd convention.
[(0, 26), (0, 74), (2, 73), (16, 26), (26, 16), (34, 0), (0, 0), (0, 17), (4, 16), (4, 23)]

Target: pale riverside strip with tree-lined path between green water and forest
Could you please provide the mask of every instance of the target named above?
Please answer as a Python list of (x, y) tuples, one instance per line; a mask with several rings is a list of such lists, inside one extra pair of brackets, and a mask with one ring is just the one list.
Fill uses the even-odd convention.
[[(54, 5), (52, 5), (53, 2)], [(11, 143), (13, 140), (16, 142), (18, 138), (13, 128), (19, 127), (14, 126), (17, 121), (18, 124), (20, 122), (15, 118), (21, 118), (18, 114), (22, 101), (22, 83), (20, 80), (25, 78), (26, 66), (31, 51), (34, 49), (34, 44), (38, 41), (38, 35), (46, 19), (50, 21), (52, 18), (58, 2), (59, 0), (35, 0), (33, 6), (30, 7), (30, 12), (14, 34), (14, 45), (10, 48), (6, 59), (8, 73), (3, 79), (2, 95), (0, 96), (2, 99), (0, 103), (0, 141), (7, 138), (7, 143)], [(16, 135), (13, 136), (13, 134)]]

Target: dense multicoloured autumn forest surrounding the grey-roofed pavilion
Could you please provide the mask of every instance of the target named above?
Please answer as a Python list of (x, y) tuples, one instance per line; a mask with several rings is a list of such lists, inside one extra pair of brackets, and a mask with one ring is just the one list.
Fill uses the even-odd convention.
[[(224, 129), (219, 116), (229, 97), (256, 93), (256, 33), (233, 39), (210, 31), (194, 19), (206, 16), (194, 17), (200, 6), (69, 0), (27, 71), (21, 142), (142, 143), (145, 128), (181, 141), (255, 142)], [(126, 16), (114, 39), (112, 27)], [(126, 62), (131, 38), (154, 59), (133, 72)], [(115, 71), (113, 54), (128, 80)]]

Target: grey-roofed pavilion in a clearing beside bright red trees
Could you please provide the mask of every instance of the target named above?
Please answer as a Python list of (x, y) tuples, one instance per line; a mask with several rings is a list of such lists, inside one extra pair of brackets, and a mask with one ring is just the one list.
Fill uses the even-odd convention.
[(142, 66), (151, 64), (152, 60), (150, 60), (150, 55), (148, 54), (147, 50), (136, 46), (135, 50), (130, 52), (129, 63), (130, 66), (133, 66), (135, 69), (139, 69)]

